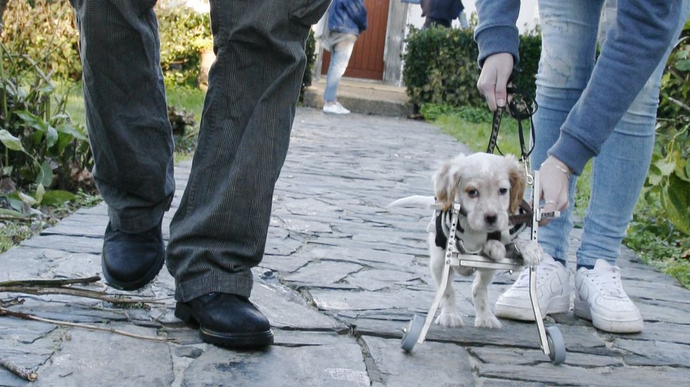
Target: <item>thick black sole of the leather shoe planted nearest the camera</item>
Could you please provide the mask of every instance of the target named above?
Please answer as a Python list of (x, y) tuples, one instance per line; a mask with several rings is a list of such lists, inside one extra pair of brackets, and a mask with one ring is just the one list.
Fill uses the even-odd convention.
[(180, 302), (177, 302), (177, 305), (175, 305), (175, 317), (184, 321), (185, 324), (199, 326), (201, 340), (213, 345), (226, 348), (251, 349), (265, 348), (273, 343), (273, 331), (271, 329), (263, 332), (228, 333), (205, 328), (199, 324), (199, 320), (194, 316), (192, 308)]

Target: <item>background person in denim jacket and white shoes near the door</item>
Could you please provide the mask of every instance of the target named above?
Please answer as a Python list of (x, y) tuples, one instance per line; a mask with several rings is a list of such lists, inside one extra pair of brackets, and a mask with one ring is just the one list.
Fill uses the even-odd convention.
[(323, 112), (348, 114), (337, 99), (340, 79), (352, 55), (360, 33), (367, 29), (367, 9), (363, 0), (334, 0), (328, 9), (327, 32), (322, 37), (325, 49), (331, 51), (331, 63), (323, 92)]

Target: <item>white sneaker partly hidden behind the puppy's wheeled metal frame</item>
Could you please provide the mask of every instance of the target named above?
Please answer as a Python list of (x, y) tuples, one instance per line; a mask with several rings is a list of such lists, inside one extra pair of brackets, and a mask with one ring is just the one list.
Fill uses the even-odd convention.
[[(549, 254), (544, 254), (537, 266), (537, 298), (542, 319), (546, 314), (570, 309), (570, 271)], [(534, 309), (529, 300), (529, 268), (523, 270), (513, 286), (498, 297), (494, 314), (503, 319), (534, 321)]]

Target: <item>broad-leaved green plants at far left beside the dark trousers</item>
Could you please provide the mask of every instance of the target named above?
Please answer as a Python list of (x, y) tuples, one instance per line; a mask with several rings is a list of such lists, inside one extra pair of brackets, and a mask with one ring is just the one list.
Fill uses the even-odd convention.
[[(65, 190), (92, 183), (87, 133), (72, 123), (66, 96), (56, 93), (49, 74), (27, 54), (11, 53), (4, 45), (0, 49), (2, 197), (21, 212), (26, 212), (22, 203), (54, 205), (73, 199)], [(27, 191), (33, 195), (23, 193)]]

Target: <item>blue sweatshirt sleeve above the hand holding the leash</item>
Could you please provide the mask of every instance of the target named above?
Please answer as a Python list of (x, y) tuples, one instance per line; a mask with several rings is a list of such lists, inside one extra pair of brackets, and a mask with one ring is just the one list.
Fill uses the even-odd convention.
[(520, 0), (477, 0), (475, 6), (479, 17), (479, 25), (475, 29), (479, 67), (484, 65), (487, 56), (501, 52), (513, 55), (517, 64), (520, 61), (517, 52), (520, 39), (515, 23), (520, 13)]

